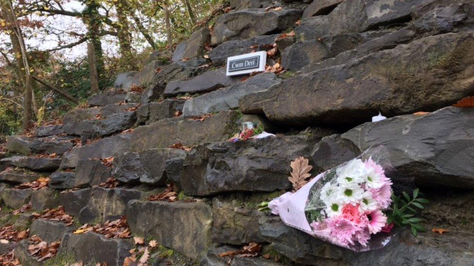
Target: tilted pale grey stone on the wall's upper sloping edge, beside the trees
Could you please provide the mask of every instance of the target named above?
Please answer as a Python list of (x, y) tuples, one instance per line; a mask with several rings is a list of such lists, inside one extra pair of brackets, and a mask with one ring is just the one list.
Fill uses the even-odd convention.
[(207, 27), (194, 31), (191, 36), (181, 42), (173, 53), (173, 61), (181, 61), (183, 59), (189, 59), (192, 57), (198, 57), (203, 54), (204, 47), (209, 45), (211, 41), (211, 35)]

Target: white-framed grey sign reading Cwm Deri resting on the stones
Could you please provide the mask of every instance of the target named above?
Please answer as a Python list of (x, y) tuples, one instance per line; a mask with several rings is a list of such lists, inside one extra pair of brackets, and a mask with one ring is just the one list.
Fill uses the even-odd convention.
[(227, 58), (227, 76), (265, 71), (267, 52), (260, 51)]

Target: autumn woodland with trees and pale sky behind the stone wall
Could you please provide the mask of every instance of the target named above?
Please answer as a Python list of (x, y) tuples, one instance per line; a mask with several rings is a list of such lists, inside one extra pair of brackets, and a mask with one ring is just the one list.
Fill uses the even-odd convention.
[[(140, 70), (222, 10), (225, 0), (0, 0), (0, 138), (51, 123), (119, 72)], [(163, 60), (169, 60), (163, 53)]]

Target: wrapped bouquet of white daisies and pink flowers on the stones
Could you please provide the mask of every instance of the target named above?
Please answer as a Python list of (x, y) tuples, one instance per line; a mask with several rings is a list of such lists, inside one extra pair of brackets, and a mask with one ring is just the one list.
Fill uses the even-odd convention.
[(390, 239), (385, 233), (393, 223), (384, 211), (391, 207), (391, 186), (381, 163), (372, 156), (359, 157), (317, 175), (268, 207), (285, 224), (307, 234), (354, 251), (372, 250)]

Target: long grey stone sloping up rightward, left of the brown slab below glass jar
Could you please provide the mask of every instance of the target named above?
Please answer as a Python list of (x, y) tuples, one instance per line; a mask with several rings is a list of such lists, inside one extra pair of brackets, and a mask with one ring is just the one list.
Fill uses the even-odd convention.
[(62, 157), (61, 169), (75, 168), (79, 160), (117, 156), (129, 149), (131, 134), (119, 134), (74, 147)]

